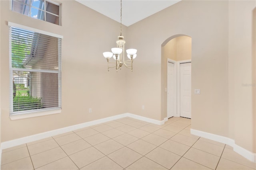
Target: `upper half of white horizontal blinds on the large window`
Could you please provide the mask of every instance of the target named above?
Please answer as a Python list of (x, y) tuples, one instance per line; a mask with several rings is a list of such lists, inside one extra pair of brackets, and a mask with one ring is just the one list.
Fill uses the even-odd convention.
[(12, 67), (56, 70), (58, 38), (12, 27)]

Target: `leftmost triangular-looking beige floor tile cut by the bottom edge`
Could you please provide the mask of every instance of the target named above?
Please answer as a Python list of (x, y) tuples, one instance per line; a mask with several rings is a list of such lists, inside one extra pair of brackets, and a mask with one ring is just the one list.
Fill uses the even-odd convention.
[(78, 170), (78, 167), (74, 162), (67, 156), (65, 158), (56, 160), (50, 164), (41, 166), (36, 170)]

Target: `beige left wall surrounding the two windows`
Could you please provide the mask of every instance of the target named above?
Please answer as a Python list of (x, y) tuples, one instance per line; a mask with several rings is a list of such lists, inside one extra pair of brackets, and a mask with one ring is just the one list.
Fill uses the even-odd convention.
[[(61, 1), (62, 26), (11, 12), (9, 1), (0, 1), (1, 19), (1, 142), (45, 131), (126, 113), (125, 69), (107, 70), (102, 52), (116, 46), (120, 24), (81, 5)], [(72, 8), (70, 8), (72, 7)], [(42, 29), (62, 40), (62, 113), (11, 121), (9, 118), (8, 21)], [(126, 27), (122, 27), (126, 36)], [(92, 108), (92, 113), (88, 109)]]

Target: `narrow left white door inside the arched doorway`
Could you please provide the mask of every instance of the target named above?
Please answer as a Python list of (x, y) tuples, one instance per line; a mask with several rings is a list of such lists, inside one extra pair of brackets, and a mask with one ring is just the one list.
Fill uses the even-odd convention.
[(168, 75), (167, 75), (167, 118), (173, 117), (176, 112), (174, 100), (176, 100), (175, 76), (174, 76), (174, 63), (168, 62)]

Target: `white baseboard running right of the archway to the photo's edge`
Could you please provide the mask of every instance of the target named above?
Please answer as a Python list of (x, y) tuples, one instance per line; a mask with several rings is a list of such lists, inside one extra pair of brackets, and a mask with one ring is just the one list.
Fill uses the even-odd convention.
[(228, 137), (224, 137), (224, 136), (220, 136), (220, 135), (215, 135), (215, 134), (212, 134), (212, 133), (207, 133), (207, 132), (204, 132), (204, 131), (198, 131), (198, 130), (195, 130), (195, 129), (190, 129), (190, 133), (192, 135), (197, 135), (197, 136), (200, 136), (200, 137), (211, 139), (213, 141), (217, 141), (217, 142), (220, 142), (220, 143), (230, 145), (231, 147), (233, 147), (233, 150), (235, 152), (244, 156), (246, 159), (256, 163), (256, 153), (250, 152), (249, 150), (246, 150), (246, 149), (236, 145), (234, 139), (230, 139)]

